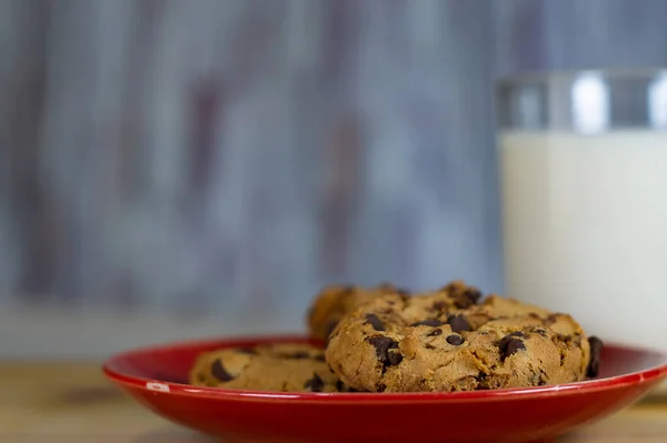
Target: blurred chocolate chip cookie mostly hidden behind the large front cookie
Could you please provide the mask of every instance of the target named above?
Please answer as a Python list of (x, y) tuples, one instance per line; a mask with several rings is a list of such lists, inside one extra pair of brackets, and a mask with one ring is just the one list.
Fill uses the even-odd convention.
[(338, 321), (367, 301), (391, 293), (407, 293), (390, 283), (374, 288), (330, 285), (313, 300), (307, 314), (308, 330), (312, 338), (327, 340)]

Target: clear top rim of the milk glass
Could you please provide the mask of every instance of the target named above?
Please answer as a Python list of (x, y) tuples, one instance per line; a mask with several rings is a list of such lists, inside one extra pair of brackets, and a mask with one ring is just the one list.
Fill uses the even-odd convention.
[(590, 74), (608, 79), (651, 79), (658, 75), (667, 75), (667, 66), (522, 71), (497, 78), (496, 85), (511, 87), (549, 81), (574, 81), (581, 75)]

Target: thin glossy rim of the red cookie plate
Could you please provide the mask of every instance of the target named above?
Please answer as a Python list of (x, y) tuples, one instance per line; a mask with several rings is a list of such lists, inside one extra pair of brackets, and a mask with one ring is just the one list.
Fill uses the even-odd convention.
[[(638, 351), (658, 356), (663, 363), (647, 368), (645, 370), (618, 374), (609, 377), (585, 380), (579, 382), (555, 384), (547, 386), (529, 387), (509, 387), (488, 391), (459, 391), (459, 392), (279, 392), (279, 391), (250, 391), (232, 390), (225, 387), (193, 386), (190, 384), (169, 382), (159, 379), (148, 379), (137, 375), (129, 375), (115, 370), (115, 362), (132, 354), (146, 352), (165, 351), (169, 348), (207, 346), (220, 344), (222, 348), (243, 346), (251, 343), (313, 343), (322, 344), (320, 340), (309, 338), (303, 333), (281, 333), (281, 334), (250, 334), (250, 335), (227, 335), (205, 339), (190, 339), (175, 342), (166, 342), (152, 345), (145, 345), (135, 349), (121, 351), (108, 356), (101, 370), (103, 374), (115, 383), (135, 389), (150, 391), (155, 394), (198, 396), (207, 399), (219, 399), (226, 401), (278, 401), (278, 402), (308, 402), (308, 403), (444, 403), (444, 402), (479, 402), (479, 401), (508, 401), (529, 397), (548, 397), (576, 395), (581, 393), (591, 393), (606, 391), (615, 387), (628, 385), (646, 384), (659, 382), (667, 377), (667, 352), (653, 349), (646, 349), (635, 345), (620, 344), (615, 342), (605, 343), (606, 348), (618, 350)], [(157, 384), (157, 389), (155, 385)]]

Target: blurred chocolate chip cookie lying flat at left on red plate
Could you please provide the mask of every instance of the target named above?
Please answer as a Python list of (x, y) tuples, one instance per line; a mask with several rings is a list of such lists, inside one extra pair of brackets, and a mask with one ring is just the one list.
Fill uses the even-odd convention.
[(331, 374), (323, 350), (308, 344), (235, 348), (200, 355), (190, 371), (198, 386), (282, 392), (349, 392)]

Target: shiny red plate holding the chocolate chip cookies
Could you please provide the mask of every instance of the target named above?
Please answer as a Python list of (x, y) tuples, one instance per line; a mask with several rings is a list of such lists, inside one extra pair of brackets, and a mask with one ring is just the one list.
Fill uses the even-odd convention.
[(667, 376), (667, 355), (607, 344), (600, 377), (556, 386), (457, 393), (281, 393), (186, 384), (200, 352), (302, 336), (239, 338), (126, 352), (104, 373), (158, 414), (252, 442), (548, 441), (638, 400)]

